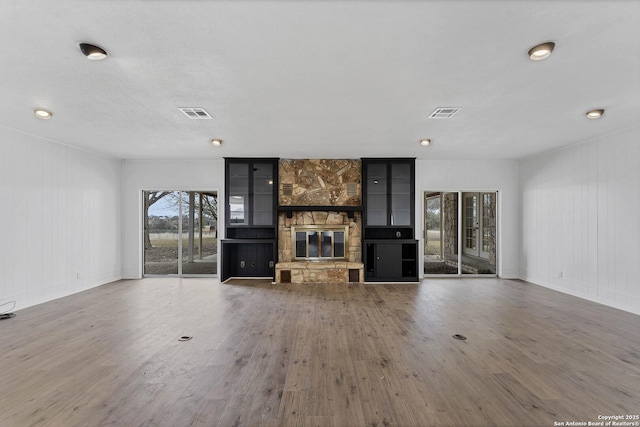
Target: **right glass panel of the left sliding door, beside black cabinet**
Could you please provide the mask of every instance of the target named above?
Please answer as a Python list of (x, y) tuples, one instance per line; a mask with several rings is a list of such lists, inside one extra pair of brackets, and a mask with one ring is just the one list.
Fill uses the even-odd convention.
[(217, 273), (216, 193), (182, 193), (182, 274)]

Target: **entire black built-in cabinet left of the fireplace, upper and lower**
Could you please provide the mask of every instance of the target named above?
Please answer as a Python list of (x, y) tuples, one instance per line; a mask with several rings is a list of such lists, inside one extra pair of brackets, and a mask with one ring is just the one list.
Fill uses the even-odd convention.
[(274, 277), (277, 262), (277, 158), (225, 159), (222, 280)]

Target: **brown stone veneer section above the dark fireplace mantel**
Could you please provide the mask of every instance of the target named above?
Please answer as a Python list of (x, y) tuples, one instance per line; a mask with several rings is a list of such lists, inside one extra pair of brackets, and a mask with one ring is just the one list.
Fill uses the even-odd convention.
[(280, 206), (360, 206), (361, 161), (281, 159)]

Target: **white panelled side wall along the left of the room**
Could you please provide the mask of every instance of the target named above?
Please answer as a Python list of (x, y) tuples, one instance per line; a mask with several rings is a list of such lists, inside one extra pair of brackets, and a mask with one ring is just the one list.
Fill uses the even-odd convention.
[(0, 151), (0, 304), (120, 279), (121, 161), (4, 127)]

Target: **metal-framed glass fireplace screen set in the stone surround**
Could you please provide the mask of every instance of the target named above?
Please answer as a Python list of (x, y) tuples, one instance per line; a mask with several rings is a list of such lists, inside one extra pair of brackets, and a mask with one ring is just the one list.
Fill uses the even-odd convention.
[(349, 227), (305, 225), (291, 227), (296, 260), (346, 259)]

